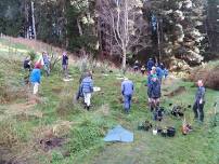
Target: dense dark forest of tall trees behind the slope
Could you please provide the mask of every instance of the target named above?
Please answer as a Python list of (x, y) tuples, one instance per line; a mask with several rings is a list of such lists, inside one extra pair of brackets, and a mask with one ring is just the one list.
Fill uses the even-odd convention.
[[(31, 38), (31, 2), (37, 39), (79, 55), (106, 54), (108, 58), (116, 55), (136, 59), (143, 54), (144, 59), (154, 56), (168, 64), (179, 59), (191, 66), (217, 56), (219, 50), (218, 0), (136, 0), (136, 5), (128, 9), (131, 11), (128, 24), (120, 24), (117, 31), (105, 16), (110, 11), (115, 11), (115, 14), (125, 9), (125, 3), (117, 3), (119, 1), (108, 0), (105, 4), (96, 0), (1, 0), (0, 32)], [(110, 10), (101, 12), (106, 5)], [(117, 32), (124, 33), (125, 25), (128, 25), (131, 44), (127, 43), (123, 51), (117, 51)]]

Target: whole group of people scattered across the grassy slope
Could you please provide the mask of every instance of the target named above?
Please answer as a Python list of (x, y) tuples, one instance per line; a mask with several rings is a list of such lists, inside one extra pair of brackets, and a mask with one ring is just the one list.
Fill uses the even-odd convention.
[[(29, 81), (33, 84), (34, 91), (33, 94), (36, 95), (38, 93), (38, 87), (41, 82), (41, 68), (44, 68), (47, 77), (50, 76), (50, 57), (43, 52), (38, 62), (35, 64), (34, 69), (31, 69), (33, 62), (30, 58), (26, 58), (24, 60), (24, 68), (30, 72)], [(156, 65), (152, 58), (149, 59), (147, 64), (147, 96), (149, 96), (149, 105), (150, 110), (153, 112), (154, 119), (156, 118), (157, 110), (159, 109), (159, 101), (162, 96), (162, 80), (165, 77), (164, 70), (165, 67), (163, 64), (159, 66)], [(64, 52), (62, 55), (62, 68), (63, 74), (65, 78), (68, 78), (68, 56), (67, 53)], [(137, 67), (134, 67), (137, 71)], [(193, 106), (194, 118), (199, 119), (199, 121), (204, 121), (204, 105), (205, 105), (205, 87), (203, 81), (199, 80), (197, 82), (198, 90), (195, 96), (195, 102)], [(124, 78), (121, 82), (121, 95), (124, 96), (124, 109), (126, 113), (130, 112), (131, 108), (131, 99), (134, 92), (134, 84), (128, 78)], [(85, 108), (90, 110), (91, 106), (91, 95), (93, 93), (93, 79), (92, 72), (86, 70), (79, 80), (79, 88), (76, 95), (76, 99), (78, 100), (80, 97), (83, 98)]]

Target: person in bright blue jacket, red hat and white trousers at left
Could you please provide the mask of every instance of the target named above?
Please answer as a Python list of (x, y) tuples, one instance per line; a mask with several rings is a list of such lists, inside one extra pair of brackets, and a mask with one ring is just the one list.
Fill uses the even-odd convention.
[(30, 73), (30, 78), (29, 81), (31, 82), (33, 86), (34, 86), (34, 91), (33, 94), (36, 95), (38, 93), (39, 90), (39, 85), (41, 82), (41, 71), (40, 71), (41, 65), (40, 64), (36, 64), (35, 68), (33, 69), (31, 73)]

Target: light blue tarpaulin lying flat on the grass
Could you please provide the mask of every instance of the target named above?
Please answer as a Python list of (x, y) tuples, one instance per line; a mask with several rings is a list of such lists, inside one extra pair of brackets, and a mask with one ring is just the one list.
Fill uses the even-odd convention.
[(133, 133), (125, 129), (120, 125), (117, 125), (113, 129), (110, 129), (104, 138), (104, 141), (121, 141), (131, 142), (133, 141)]

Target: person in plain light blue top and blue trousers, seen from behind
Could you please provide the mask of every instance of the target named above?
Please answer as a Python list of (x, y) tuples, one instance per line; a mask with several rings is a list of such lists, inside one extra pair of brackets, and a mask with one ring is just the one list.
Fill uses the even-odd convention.
[(129, 113), (131, 108), (131, 98), (133, 95), (133, 82), (128, 78), (125, 78), (121, 82), (121, 95), (124, 96), (124, 109), (126, 113)]

